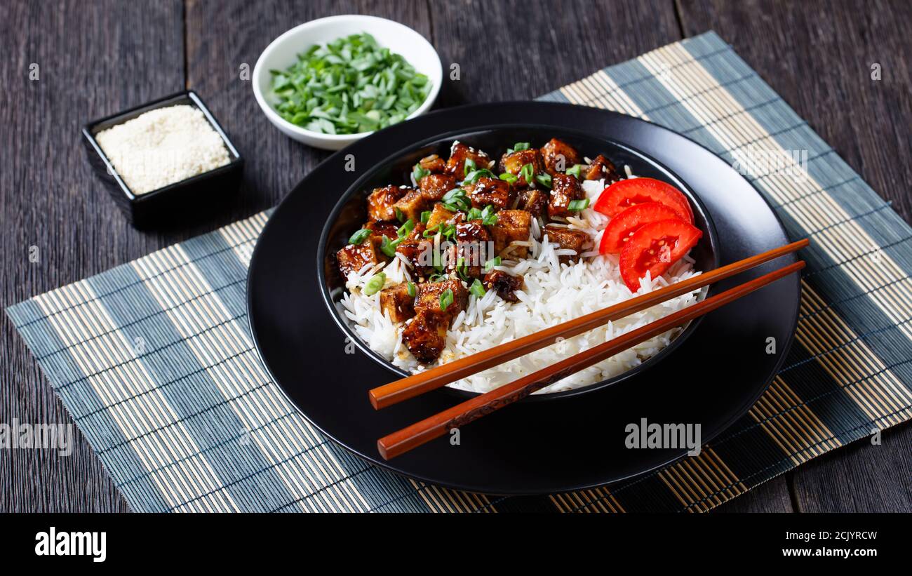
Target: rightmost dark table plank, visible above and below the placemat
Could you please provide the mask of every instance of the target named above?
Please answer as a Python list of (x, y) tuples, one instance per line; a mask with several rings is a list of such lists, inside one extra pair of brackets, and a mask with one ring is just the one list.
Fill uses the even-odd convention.
[[(679, 0), (687, 36), (714, 29), (912, 222), (912, 4)], [(762, 41), (758, 41), (762, 39)], [(872, 64), (882, 79), (871, 77)], [(790, 473), (800, 511), (912, 511), (912, 427)]]

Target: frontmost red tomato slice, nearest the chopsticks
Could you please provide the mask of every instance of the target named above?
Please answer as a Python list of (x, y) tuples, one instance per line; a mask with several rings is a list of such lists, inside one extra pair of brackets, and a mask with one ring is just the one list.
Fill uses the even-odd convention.
[(679, 220), (651, 222), (633, 233), (621, 251), (621, 277), (630, 292), (639, 290), (639, 279), (648, 272), (655, 279), (666, 273), (694, 247), (703, 235)]

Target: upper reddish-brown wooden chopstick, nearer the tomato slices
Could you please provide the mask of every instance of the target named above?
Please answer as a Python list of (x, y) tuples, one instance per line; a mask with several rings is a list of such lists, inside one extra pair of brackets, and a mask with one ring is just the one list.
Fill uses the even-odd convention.
[(586, 314), (575, 318), (564, 324), (558, 324), (550, 328), (545, 328), (539, 332), (517, 338), (511, 342), (497, 345), (488, 350), (464, 356), (458, 360), (448, 362), (447, 364), (430, 368), (416, 375), (390, 382), (383, 386), (378, 386), (368, 391), (370, 403), (375, 409), (385, 408), (398, 404), (414, 396), (419, 396), (433, 390), (455, 382), (460, 378), (473, 375), (492, 366), (501, 365), (508, 360), (527, 355), (530, 352), (553, 345), (558, 338), (565, 339), (583, 334), (602, 324), (623, 318), (629, 314), (634, 314), (641, 310), (646, 310), (650, 306), (665, 302), (675, 298), (683, 293), (689, 293), (700, 289), (710, 283), (715, 283), (729, 276), (749, 270), (763, 262), (769, 262), (791, 252), (797, 252), (808, 245), (807, 239), (799, 240), (786, 244), (780, 248), (774, 248), (770, 251), (745, 258), (738, 262), (732, 262), (725, 266), (720, 266), (715, 270), (707, 273), (701, 273), (692, 276), (687, 280), (679, 283), (673, 283), (669, 286), (656, 290), (655, 292), (643, 294), (622, 303), (608, 306), (591, 314)]

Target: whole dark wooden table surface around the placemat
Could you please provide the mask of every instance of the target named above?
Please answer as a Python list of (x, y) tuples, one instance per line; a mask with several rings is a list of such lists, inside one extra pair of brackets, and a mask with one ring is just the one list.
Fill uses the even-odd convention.
[[(334, 14), (411, 26), (461, 80), (439, 107), (534, 98), (597, 68), (709, 29), (912, 221), (912, 4), (628, 0), (0, 3), (0, 254), (4, 307), (130, 262), (275, 205), (326, 153), (281, 135), (250, 82), (286, 29)], [(872, 63), (883, 77), (872, 82)], [(37, 65), (37, 80), (29, 78)], [(126, 223), (80, 148), (81, 123), (197, 90), (247, 158), (244, 190), (223, 213), (161, 233)], [(39, 248), (40, 262), (28, 259)], [(0, 422), (70, 422), (3, 320)], [(816, 458), (720, 507), (725, 511), (912, 511), (912, 427)], [(127, 511), (85, 439), (67, 458), (0, 450), (0, 511)]]

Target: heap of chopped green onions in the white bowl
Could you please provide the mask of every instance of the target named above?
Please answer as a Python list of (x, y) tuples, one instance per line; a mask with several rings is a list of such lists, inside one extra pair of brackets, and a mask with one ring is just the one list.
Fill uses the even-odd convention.
[(367, 33), (310, 46), (285, 70), (270, 70), (275, 111), (302, 128), (356, 134), (401, 122), (430, 93), (430, 80)]

